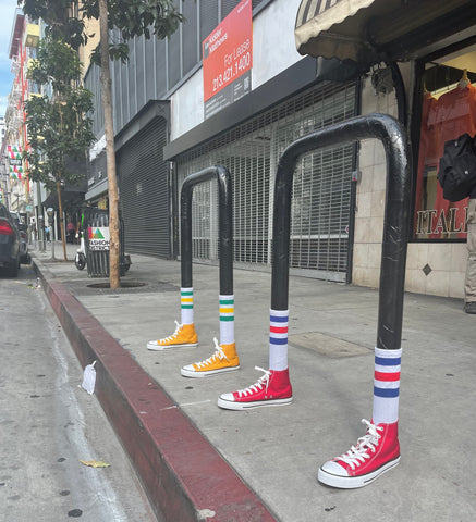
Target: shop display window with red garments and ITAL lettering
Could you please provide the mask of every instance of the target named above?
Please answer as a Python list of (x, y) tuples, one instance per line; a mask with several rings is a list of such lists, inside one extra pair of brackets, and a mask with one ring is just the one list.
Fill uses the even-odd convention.
[(476, 135), (476, 45), (425, 63), (414, 239), (466, 238), (468, 198), (443, 198), (437, 174), (444, 144)]

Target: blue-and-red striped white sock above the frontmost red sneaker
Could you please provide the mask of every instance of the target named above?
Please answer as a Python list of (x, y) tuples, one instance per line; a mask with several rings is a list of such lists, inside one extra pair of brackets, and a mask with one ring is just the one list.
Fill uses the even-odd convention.
[(399, 420), (401, 360), (401, 348), (375, 349), (374, 424), (392, 424)]

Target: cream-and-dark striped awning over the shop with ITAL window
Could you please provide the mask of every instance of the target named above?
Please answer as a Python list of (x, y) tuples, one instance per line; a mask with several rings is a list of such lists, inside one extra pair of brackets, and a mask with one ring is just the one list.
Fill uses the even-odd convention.
[[(415, 47), (418, 36), (420, 40), (441, 38), (442, 33), (451, 30), (453, 15), (457, 25), (468, 25), (475, 17), (475, 0), (302, 0), (294, 29), (296, 48), (301, 54), (370, 64), (381, 59), (382, 50), (404, 55), (406, 44)], [(422, 28), (428, 29), (425, 35)], [(408, 41), (406, 36), (411, 37)]]

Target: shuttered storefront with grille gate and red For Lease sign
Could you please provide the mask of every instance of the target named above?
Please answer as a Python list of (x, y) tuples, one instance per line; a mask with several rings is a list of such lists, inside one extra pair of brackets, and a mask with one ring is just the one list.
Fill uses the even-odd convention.
[[(187, 175), (215, 164), (229, 169), (235, 265), (270, 270), (274, 175), (282, 152), (308, 133), (355, 116), (361, 94), (355, 66), (335, 74), (333, 62), (295, 52), (297, 0), (256, 3), (253, 23), (252, 2), (243, 0), (204, 35), (203, 72), (171, 99), (172, 141), (164, 157), (175, 166), (176, 202)], [(292, 196), (293, 274), (350, 279), (355, 158), (351, 144), (300, 162)], [(193, 199), (193, 257), (210, 263), (219, 256), (215, 185), (196, 187)]]

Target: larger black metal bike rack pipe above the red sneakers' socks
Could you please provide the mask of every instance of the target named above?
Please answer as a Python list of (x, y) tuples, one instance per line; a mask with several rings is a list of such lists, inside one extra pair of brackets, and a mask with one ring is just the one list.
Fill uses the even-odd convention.
[(316, 130), (291, 144), (276, 175), (272, 226), (271, 309), (288, 310), (291, 195), (301, 156), (335, 144), (380, 139), (387, 158), (387, 195), (380, 266), (377, 348), (399, 349), (408, 241), (411, 154), (403, 126), (386, 114), (357, 116)]

